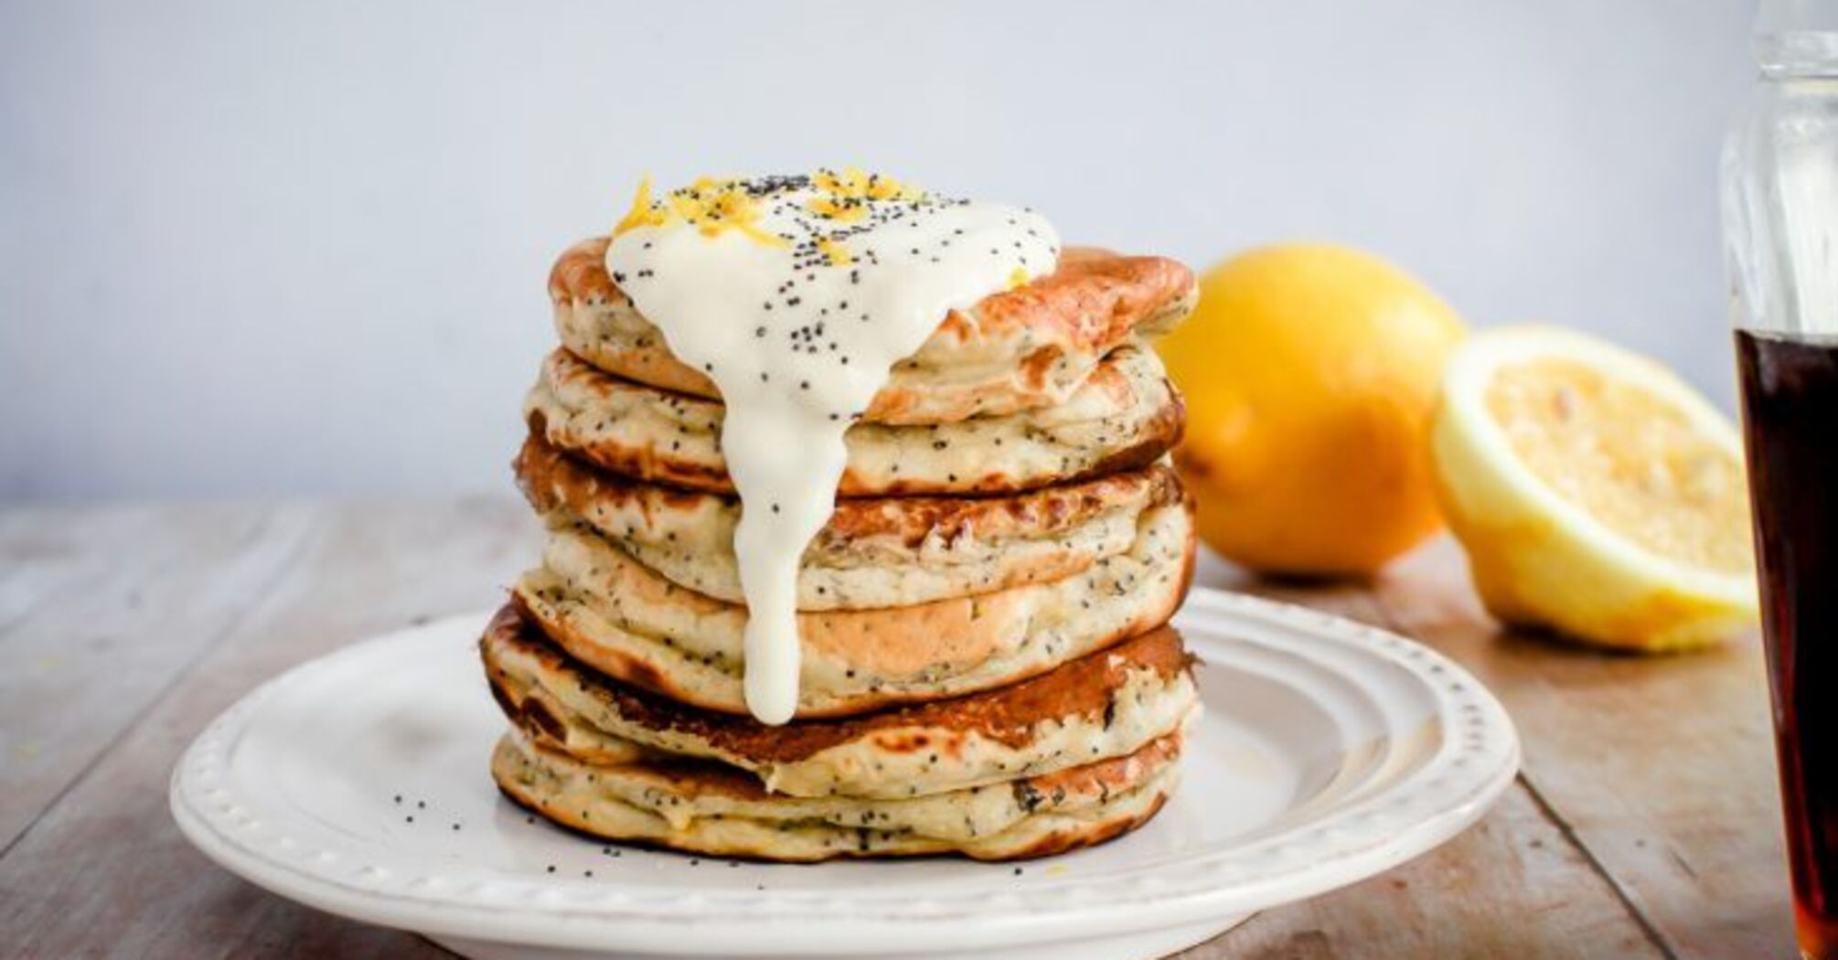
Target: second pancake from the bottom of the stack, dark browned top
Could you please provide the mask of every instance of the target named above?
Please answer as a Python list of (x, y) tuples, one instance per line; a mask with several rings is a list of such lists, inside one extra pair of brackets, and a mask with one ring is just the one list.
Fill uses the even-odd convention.
[(505, 715), (573, 756), (649, 750), (748, 771), (792, 796), (908, 798), (1129, 756), (1182, 730), (1198, 706), (1189, 657), (1167, 629), (1018, 684), (902, 710), (768, 726), (603, 679), (548, 644), (515, 607), (480, 642)]

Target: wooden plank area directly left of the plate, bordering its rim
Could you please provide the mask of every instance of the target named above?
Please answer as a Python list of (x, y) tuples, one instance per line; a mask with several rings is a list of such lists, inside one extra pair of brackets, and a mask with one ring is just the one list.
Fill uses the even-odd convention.
[[(20, 956), (414, 956), (436, 947), (265, 894), (178, 835), (180, 750), (257, 680), (369, 633), (485, 607), (533, 555), (507, 500), (320, 509), (300, 557), (156, 708), (0, 859)], [(254, 600), (254, 601), (250, 601)]]

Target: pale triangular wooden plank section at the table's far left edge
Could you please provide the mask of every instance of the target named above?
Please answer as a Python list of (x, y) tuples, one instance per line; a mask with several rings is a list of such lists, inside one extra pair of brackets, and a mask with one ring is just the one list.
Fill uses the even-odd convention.
[(42, 509), (0, 526), (0, 850), (290, 561), (298, 509)]

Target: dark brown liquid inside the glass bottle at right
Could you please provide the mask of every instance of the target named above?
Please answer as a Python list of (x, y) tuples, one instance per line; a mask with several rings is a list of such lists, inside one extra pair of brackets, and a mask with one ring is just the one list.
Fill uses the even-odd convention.
[(1737, 331), (1763, 629), (1807, 956), (1838, 956), (1838, 337)]

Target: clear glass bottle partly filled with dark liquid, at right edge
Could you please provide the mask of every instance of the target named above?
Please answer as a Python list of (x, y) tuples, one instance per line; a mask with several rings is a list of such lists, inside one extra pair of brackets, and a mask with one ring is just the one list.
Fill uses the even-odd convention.
[(1794, 920), (1838, 960), (1838, 0), (1763, 0), (1724, 237)]

